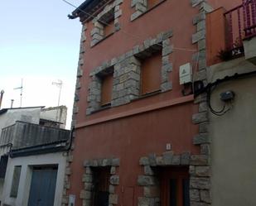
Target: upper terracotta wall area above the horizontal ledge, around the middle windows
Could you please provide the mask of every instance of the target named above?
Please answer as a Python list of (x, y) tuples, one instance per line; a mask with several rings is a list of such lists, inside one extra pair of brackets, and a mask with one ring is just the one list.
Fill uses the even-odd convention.
[[(119, 113), (129, 108), (147, 105), (148, 103), (157, 103), (159, 100), (181, 97), (182, 87), (179, 84), (178, 67), (192, 61), (193, 52), (190, 50), (176, 50), (174, 55), (170, 55), (170, 61), (175, 68), (170, 74), (173, 87), (171, 93), (163, 93), (162, 95), (152, 97), (150, 101), (142, 99), (139, 103), (128, 104), (119, 108), (111, 108), (111, 111), (106, 110), (101, 113), (95, 113), (92, 116), (85, 116), (87, 108), (86, 97), (88, 96), (88, 87), (91, 81), (89, 73), (95, 67), (102, 65), (104, 61), (123, 55), (128, 50), (133, 49), (133, 46), (141, 45), (147, 38), (157, 36), (159, 33), (170, 29), (174, 31), (174, 35), (171, 38), (171, 44), (173, 46), (196, 49), (196, 46), (191, 44), (191, 36), (196, 32), (196, 28), (191, 24), (191, 21), (197, 11), (191, 7), (190, 2), (162, 2), (158, 7), (133, 22), (130, 22), (130, 16), (133, 13), (130, 3), (130, 1), (124, 1), (120, 5), (123, 11), (120, 17), (121, 30), (92, 48), (90, 47), (90, 31), (94, 26), (92, 22), (87, 23), (87, 30), (85, 31), (85, 65), (83, 66), (83, 78), (80, 79), (80, 113), (76, 117), (76, 122), (85, 122), (88, 119), (104, 117), (108, 115), (108, 113)], [(186, 16), (179, 12), (179, 7), (183, 7), (183, 9), (187, 11)], [(179, 22), (177, 22), (176, 19), (179, 19)], [(183, 27), (180, 26), (180, 22), (186, 27), (186, 35)]]

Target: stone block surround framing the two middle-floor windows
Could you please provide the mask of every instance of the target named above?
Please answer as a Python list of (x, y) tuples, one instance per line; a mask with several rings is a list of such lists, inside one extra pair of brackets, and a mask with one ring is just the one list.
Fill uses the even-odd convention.
[[(104, 62), (103, 65), (93, 69), (89, 74), (91, 83), (89, 84), (89, 96), (87, 98), (88, 107), (86, 114), (89, 115), (99, 111), (102, 98), (102, 80), (99, 78), (102, 73), (113, 73), (113, 88), (111, 95), (111, 107), (117, 107), (130, 103), (135, 99), (141, 98), (142, 94), (142, 72), (143, 61), (153, 58), (155, 55), (161, 59), (159, 65), (159, 93), (167, 92), (172, 89), (169, 73), (172, 65), (169, 55), (172, 53), (170, 37), (172, 31), (162, 32), (156, 38), (150, 38), (142, 45), (134, 46), (133, 50)], [(153, 92), (150, 90), (150, 92)], [(147, 93), (150, 93), (147, 91)]]

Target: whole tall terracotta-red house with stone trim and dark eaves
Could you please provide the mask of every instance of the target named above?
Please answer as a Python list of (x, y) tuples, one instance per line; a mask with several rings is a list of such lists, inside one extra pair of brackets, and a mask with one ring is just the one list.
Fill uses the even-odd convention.
[(193, 91), (223, 44), (206, 14), (240, 3), (87, 0), (72, 13), (83, 30), (63, 205), (211, 204), (207, 103)]

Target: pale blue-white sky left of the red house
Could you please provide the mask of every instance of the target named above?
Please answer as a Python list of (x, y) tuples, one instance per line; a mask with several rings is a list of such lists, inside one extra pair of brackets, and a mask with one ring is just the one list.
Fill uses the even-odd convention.
[[(63, 81), (60, 105), (68, 107), (68, 123), (75, 92), (75, 74), (80, 47), (81, 25), (67, 14), (75, 8), (62, 0), (0, 1), (0, 90), (4, 90), (2, 108), (54, 107), (59, 89), (52, 85)], [(79, 6), (84, 0), (69, 0)]]

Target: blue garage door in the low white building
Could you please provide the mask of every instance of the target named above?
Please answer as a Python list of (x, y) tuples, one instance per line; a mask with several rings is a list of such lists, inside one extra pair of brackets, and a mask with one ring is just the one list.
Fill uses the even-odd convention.
[(34, 168), (27, 206), (53, 206), (57, 168)]

